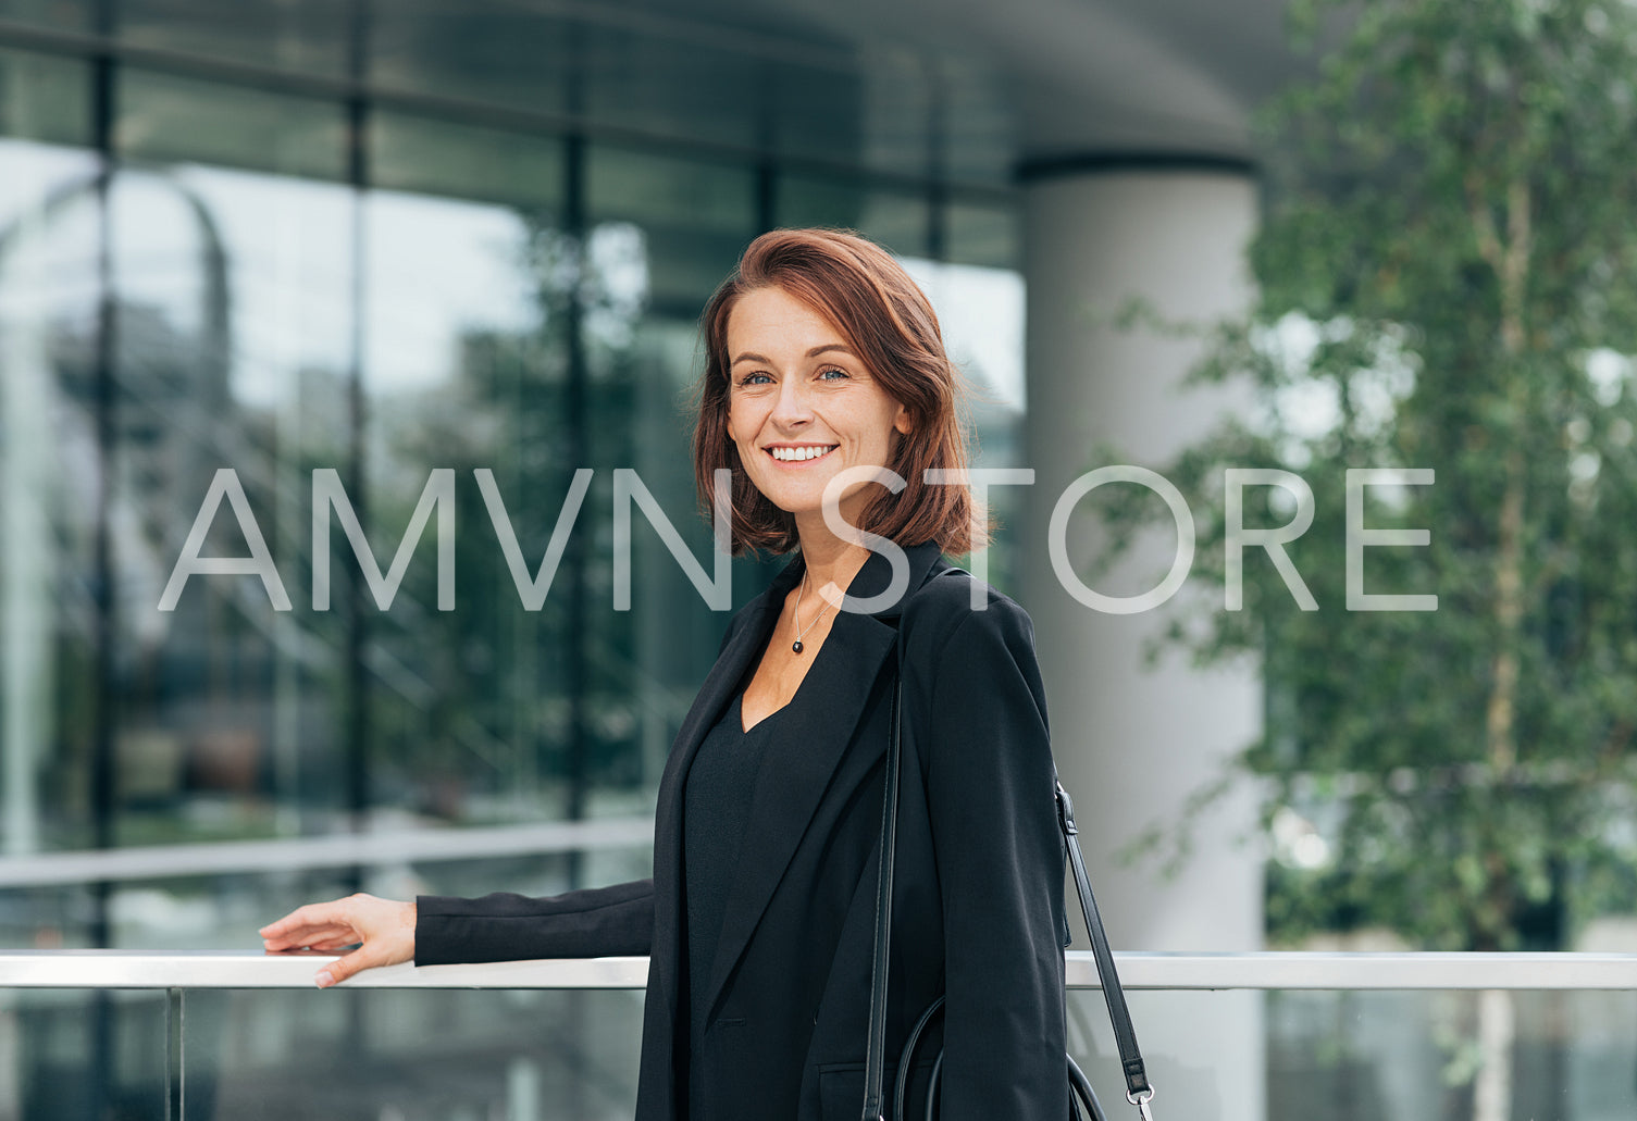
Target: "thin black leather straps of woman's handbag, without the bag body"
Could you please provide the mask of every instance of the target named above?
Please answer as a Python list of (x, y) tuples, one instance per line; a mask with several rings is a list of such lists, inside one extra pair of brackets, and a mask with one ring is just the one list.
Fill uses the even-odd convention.
[[(861, 1121), (886, 1121), (882, 1077), (887, 1064), (887, 944), (892, 936), (892, 864), (899, 835), (902, 704), (904, 678), (899, 674), (892, 684), (892, 738), (887, 743), (886, 794), (881, 810), (881, 859), (876, 880), (876, 954), (869, 977), (869, 1038), (864, 1051), (864, 1110)], [(1056, 774), (1053, 774), (1053, 779), (1056, 781)], [(1097, 977), (1102, 982), (1103, 1002), (1108, 1005), (1108, 1020), (1113, 1023), (1115, 1044), (1120, 1047), (1120, 1069), (1125, 1072), (1126, 1101), (1138, 1108), (1143, 1121), (1151, 1121), (1148, 1103), (1154, 1096), (1154, 1087), (1148, 1082), (1143, 1052), (1136, 1042), (1136, 1028), (1131, 1024), (1131, 1011), (1125, 1002), (1125, 988), (1120, 985), (1115, 956), (1108, 949), (1108, 934), (1103, 931), (1103, 920), (1097, 912), (1092, 880), (1085, 874), (1085, 859), (1080, 856), (1080, 843), (1077, 840), (1079, 828), (1074, 823), (1074, 802), (1069, 799), (1069, 792), (1062, 789), (1062, 782), (1056, 782), (1056, 787), (1058, 826), (1062, 830), (1069, 866), (1074, 869), (1074, 889), (1080, 897), (1080, 913), (1085, 916), (1085, 930), (1092, 939)]]

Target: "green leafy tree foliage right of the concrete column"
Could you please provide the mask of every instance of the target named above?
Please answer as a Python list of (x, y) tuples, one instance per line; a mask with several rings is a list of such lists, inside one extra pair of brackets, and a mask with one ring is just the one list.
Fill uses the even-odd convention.
[[(1319, 28), (1326, 0), (1301, 3)], [(1175, 637), (1262, 656), (1269, 820), (1297, 807), (1328, 861), (1275, 869), (1275, 936), (1390, 926), (1439, 949), (1555, 946), (1630, 907), (1637, 732), (1637, 29), (1616, 0), (1364, 0), (1267, 118), (1254, 309), (1206, 332), (1205, 381), (1257, 409), (1166, 468), (1198, 496), (1193, 574), (1221, 589), (1226, 466), (1313, 488), (1288, 547), (1316, 612), (1260, 550), (1244, 609)], [(1346, 468), (1372, 489), (1369, 592), (1349, 612)], [(1246, 488), (1247, 527), (1292, 517)], [(1133, 511), (1115, 511), (1130, 527)]]

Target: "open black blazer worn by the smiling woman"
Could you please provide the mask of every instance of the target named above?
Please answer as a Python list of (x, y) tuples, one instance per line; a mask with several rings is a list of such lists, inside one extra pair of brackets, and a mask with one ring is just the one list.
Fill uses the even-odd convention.
[[(1021, 607), (905, 550), (909, 592), (841, 612), (764, 756), (710, 984), (686, 993), (683, 777), (706, 732), (766, 645), (796, 560), (740, 610), (671, 748), (653, 835), (653, 879), (550, 898), (422, 895), (416, 964), (648, 954), (638, 1121), (686, 1113), (688, 1002), (709, 1002), (709, 1118), (858, 1118), (874, 943), (882, 761), (902, 635), (900, 782), (887, 1056), (946, 993), (943, 1121), (1062, 1121), (1062, 838), (1033, 630)], [(871, 555), (848, 589), (887, 588)], [(802, 699), (802, 694), (797, 694)], [(794, 702), (792, 702), (794, 704)], [(915, 1082), (925, 1070), (915, 1072)], [(891, 1072), (889, 1072), (891, 1078)], [(891, 1093), (891, 1082), (889, 1082)]]

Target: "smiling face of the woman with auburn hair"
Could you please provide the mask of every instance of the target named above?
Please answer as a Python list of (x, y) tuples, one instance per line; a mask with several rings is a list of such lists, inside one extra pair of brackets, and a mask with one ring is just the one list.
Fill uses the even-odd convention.
[[(782, 288), (740, 296), (727, 321), (727, 434), (751, 483), (797, 527), (820, 527), (825, 484), (850, 466), (884, 466), (909, 412), (887, 396), (825, 316)], [(874, 484), (850, 486), (848, 522)], [(807, 515), (807, 517), (804, 517)]]

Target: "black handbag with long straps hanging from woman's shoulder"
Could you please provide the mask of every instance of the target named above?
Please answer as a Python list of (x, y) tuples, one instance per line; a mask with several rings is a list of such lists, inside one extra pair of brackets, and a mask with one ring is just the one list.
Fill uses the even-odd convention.
[[(863, 1121), (886, 1121), (882, 1114), (882, 1074), (886, 1069), (886, 1034), (887, 1034), (887, 938), (892, 931), (892, 859), (899, 835), (899, 761), (900, 748), (900, 714), (904, 702), (902, 676), (894, 684), (892, 692), (892, 741), (887, 746), (887, 792), (881, 813), (881, 872), (876, 894), (876, 961), (869, 979), (869, 1044), (864, 1052), (864, 1113)], [(1085, 930), (1092, 936), (1092, 957), (1097, 959), (1097, 975), (1102, 980), (1103, 1000), (1108, 1003), (1108, 1018), (1115, 1026), (1115, 1042), (1120, 1047), (1120, 1065), (1125, 1070), (1126, 1101), (1138, 1108), (1143, 1121), (1152, 1121), (1148, 1103), (1154, 1096), (1154, 1088), (1148, 1083), (1148, 1072), (1143, 1069), (1143, 1054), (1136, 1046), (1136, 1029), (1131, 1026), (1131, 1013), (1125, 1003), (1125, 990), (1120, 987), (1120, 974), (1115, 972), (1115, 959), (1108, 951), (1108, 936), (1103, 933), (1103, 920), (1097, 913), (1097, 900), (1092, 897), (1092, 884), (1085, 876), (1085, 861), (1080, 858), (1080, 844), (1076, 841), (1079, 830), (1074, 826), (1074, 802), (1069, 792), (1058, 782), (1058, 825), (1062, 828), (1062, 843), (1069, 853), (1069, 864), (1074, 867), (1074, 887), (1080, 897), (1080, 912), (1085, 915)], [(909, 1087), (910, 1064), (922, 1034), (931, 1021), (943, 1011), (943, 997), (933, 1000), (910, 1029), (904, 1051), (899, 1056), (899, 1077), (892, 1095), (892, 1118), (904, 1121), (904, 1096)], [(1069, 1113), (1074, 1121), (1082, 1121), (1080, 1106), (1092, 1121), (1107, 1121), (1102, 1103), (1092, 1090), (1090, 1080), (1074, 1062), (1064, 1056), (1069, 1075)], [(943, 1069), (943, 1054), (938, 1054), (927, 1087), (927, 1121), (933, 1121), (938, 1106), (938, 1085)]]

